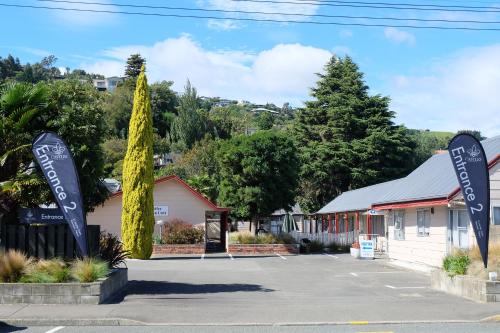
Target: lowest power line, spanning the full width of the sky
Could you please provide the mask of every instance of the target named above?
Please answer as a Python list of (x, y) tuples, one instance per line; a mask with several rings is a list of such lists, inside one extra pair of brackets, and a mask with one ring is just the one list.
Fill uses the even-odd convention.
[(176, 18), (191, 18), (191, 19), (233, 20), (233, 21), (247, 21), (247, 22), (250, 21), (250, 22), (270, 22), (270, 23), (296, 23), (296, 24), (312, 24), (312, 25), (409, 28), (409, 29), (433, 29), (433, 30), (500, 31), (500, 28), (444, 27), (444, 26), (418, 26), (418, 25), (396, 25), (396, 24), (347, 23), (347, 22), (331, 22), (331, 21), (322, 22), (322, 21), (277, 20), (277, 19), (258, 19), (258, 18), (244, 18), (244, 17), (220, 17), (220, 16), (208, 16), (208, 15), (201, 16), (201, 15), (130, 12), (130, 11), (114, 11), (114, 10), (98, 10), (98, 9), (82, 9), (82, 8), (66, 8), (66, 7), (48, 7), (48, 6), (6, 4), (6, 3), (0, 3), (0, 6), (2, 6), (2, 7), (15, 7), (15, 8), (31, 8), (31, 9), (89, 12), (89, 13), (124, 14), (124, 15), (136, 15), (136, 16), (157, 16), (157, 17), (176, 17)]

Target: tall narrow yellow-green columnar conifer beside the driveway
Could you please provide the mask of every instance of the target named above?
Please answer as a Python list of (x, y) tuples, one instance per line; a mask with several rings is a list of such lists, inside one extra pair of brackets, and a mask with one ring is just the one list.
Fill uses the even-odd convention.
[(144, 66), (137, 79), (123, 162), (122, 240), (132, 258), (153, 249), (153, 117)]

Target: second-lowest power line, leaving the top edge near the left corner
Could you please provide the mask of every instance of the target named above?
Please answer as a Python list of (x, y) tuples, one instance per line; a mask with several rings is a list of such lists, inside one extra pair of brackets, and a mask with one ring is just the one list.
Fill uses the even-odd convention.
[(263, 12), (263, 11), (225, 10), (225, 9), (205, 9), (205, 8), (152, 6), (152, 5), (133, 5), (133, 4), (118, 4), (118, 3), (109, 4), (109, 3), (103, 3), (103, 2), (72, 1), (72, 0), (37, 0), (37, 1), (39, 1), (39, 2), (70, 3), (70, 4), (85, 4), (85, 5), (99, 5), (99, 6), (147, 8), (147, 9), (167, 9), (167, 10), (183, 10), (183, 11), (216, 12), (216, 13), (230, 13), (230, 14), (235, 14), (236, 13), (236, 14), (253, 14), (253, 15), (281, 15), (281, 16), (299, 16), (299, 17), (367, 19), (367, 20), (383, 20), (383, 21), (416, 21), (416, 22), (442, 22), (442, 23), (500, 24), (500, 21), (481, 21), (481, 20), (449, 20), (449, 19), (423, 19), (423, 18), (400, 18), (400, 17), (376, 17), (376, 16), (352, 16), (352, 15), (282, 13), (282, 12)]

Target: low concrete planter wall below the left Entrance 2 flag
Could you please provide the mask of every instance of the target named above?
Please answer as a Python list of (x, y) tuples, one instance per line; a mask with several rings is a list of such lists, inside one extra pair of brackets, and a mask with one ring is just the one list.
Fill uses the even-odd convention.
[(0, 283), (0, 304), (100, 304), (128, 282), (126, 268), (90, 283)]

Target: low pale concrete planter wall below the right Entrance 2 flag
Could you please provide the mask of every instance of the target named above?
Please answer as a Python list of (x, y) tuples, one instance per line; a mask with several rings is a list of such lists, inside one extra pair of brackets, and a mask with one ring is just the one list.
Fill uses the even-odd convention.
[(450, 277), (447, 272), (431, 272), (431, 288), (480, 302), (500, 302), (500, 281), (487, 281), (467, 275)]

